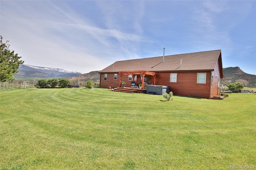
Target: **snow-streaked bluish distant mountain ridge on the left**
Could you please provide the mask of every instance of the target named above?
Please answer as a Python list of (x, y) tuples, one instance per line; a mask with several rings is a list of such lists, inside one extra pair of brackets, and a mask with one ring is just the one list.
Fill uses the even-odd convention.
[(18, 71), (19, 72), (13, 76), (16, 79), (68, 78), (82, 74), (76, 71), (68, 71), (64, 69), (56, 69), (49, 67), (36, 67), (25, 64), (20, 65)]

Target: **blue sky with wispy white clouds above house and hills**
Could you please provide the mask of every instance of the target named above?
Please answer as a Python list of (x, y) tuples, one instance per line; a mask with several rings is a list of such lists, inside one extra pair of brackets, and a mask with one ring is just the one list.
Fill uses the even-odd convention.
[(88, 73), (115, 61), (222, 50), (256, 75), (256, 1), (0, 1), (24, 64)]

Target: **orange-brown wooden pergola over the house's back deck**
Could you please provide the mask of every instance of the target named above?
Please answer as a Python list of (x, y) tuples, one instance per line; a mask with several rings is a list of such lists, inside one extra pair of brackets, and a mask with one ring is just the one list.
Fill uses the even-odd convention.
[(146, 70), (136, 70), (136, 71), (119, 71), (120, 75), (120, 82), (119, 86), (121, 86), (122, 82), (122, 75), (132, 75), (132, 81), (134, 81), (134, 77), (136, 75), (142, 75), (142, 87), (144, 87), (144, 77), (145, 75), (152, 75), (154, 77), (154, 84), (156, 84), (156, 73), (152, 71), (146, 71)]

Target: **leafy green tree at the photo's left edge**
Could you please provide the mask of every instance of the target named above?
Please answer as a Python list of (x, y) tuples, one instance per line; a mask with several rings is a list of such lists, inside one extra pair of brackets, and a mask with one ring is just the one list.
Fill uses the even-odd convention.
[(9, 49), (8, 41), (3, 43), (2, 39), (0, 36), (0, 82), (12, 81), (14, 80), (12, 76), (18, 73), (18, 68), (24, 61), (19, 60), (21, 57)]

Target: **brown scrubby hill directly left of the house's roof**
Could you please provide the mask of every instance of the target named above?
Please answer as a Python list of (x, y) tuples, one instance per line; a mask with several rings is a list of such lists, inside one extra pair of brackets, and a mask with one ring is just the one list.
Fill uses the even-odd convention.
[(76, 75), (74, 77), (69, 77), (68, 79), (78, 84), (86, 82), (90, 79), (92, 79), (93, 82), (100, 82), (100, 73), (98, 73), (98, 71), (91, 71), (90, 73)]

